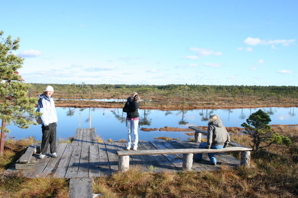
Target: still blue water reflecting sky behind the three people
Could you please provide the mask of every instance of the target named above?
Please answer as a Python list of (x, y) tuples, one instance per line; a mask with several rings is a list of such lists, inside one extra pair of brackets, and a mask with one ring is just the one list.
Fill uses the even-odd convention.
[[(144, 110), (140, 109), (140, 128), (161, 128), (188, 126), (207, 126), (208, 118), (212, 114), (217, 114), (227, 127), (241, 127), (248, 116), (262, 109), (270, 115), (270, 124), (298, 124), (297, 107), (268, 107), (268, 108), (244, 108), (244, 109), (194, 109), (194, 110)], [(92, 126), (96, 128), (96, 133), (104, 141), (112, 139), (114, 141), (127, 138), (127, 128), (125, 126), (126, 113), (122, 108), (65, 108), (57, 107), (57, 139), (67, 139), (74, 136), (75, 129), (79, 128), (79, 114), (81, 114), (81, 128), (89, 127), (89, 113), (91, 114)], [(41, 125), (32, 125), (29, 129), (20, 129), (15, 126), (8, 126), (10, 133), (6, 137), (22, 139), (29, 136), (41, 140)], [(154, 140), (154, 137), (171, 137), (180, 140), (189, 138), (186, 132), (165, 132), (139, 130), (139, 139), (143, 141)]]

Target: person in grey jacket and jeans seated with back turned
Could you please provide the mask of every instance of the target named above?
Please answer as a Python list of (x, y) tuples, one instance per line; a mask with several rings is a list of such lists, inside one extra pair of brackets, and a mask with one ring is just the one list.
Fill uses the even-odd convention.
[[(223, 125), (222, 120), (218, 115), (211, 115), (210, 120), (208, 122), (208, 135), (207, 135), (207, 142), (201, 143), (199, 148), (213, 148), (213, 149), (220, 149), (226, 148), (230, 142), (230, 136), (226, 131), (225, 126)], [(217, 160), (214, 156), (214, 153), (208, 153), (209, 159), (212, 165), (217, 164)], [(202, 160), (203, 153), (197, 153), (195, 158), (200, 161)]]

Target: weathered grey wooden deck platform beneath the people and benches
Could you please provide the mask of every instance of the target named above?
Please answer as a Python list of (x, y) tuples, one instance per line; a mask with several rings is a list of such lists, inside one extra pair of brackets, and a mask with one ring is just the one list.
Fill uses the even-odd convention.
[[(35, 144), (36, 145), (36, 144)], [(199, 143), (193, 142), (145, 142), (139, 143), (140, 150), (198, 148)], [(22, 172), (26, 177), (55, 178), (93, 178), (110, 176), (118, 171), (117, 150), (126, 149), (126, 143), (97, 143), (95, 128), (76, 129), (72, 143), (57, 144), (57, 158), (48, 154), (38, 159), (37, 154), (31, 158), (36, 160), (34, 170), (16, 170), (12, 165), (5, 172)], [(134, 152), (131, 150), (131, 152)], [(222, 165), (234, 168), (240, 164), (236, 158), (217, 153), (217, 165), (210, 165), (207, 154), (203, 161), (193, 162), (193, 171), (220, 170)], [(133, 155), (130, 156), (130, 167), (139, 166), (142, 171), (182, 171), (182, 154)]]

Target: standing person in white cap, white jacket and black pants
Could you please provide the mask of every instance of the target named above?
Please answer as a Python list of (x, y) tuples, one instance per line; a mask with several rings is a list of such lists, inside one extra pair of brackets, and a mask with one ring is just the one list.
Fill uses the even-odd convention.
[(56, 133), (57, 133), (57, 112), (55, 108), (54, 99), (52, 97), (54, 88), (47, 86), (42, 95), (39, 96), (37, 111), (41, 112), (40, 116), (42, 129), (41, 152), (39, 158), (45, 157), (45, 154), (50, 145), (51, 157), (57, 157), (56, 154)]

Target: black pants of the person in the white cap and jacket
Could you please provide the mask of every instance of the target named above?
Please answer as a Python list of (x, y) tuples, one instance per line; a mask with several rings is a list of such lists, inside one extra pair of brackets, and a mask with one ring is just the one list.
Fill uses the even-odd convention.
[(49, 130), (41, 126), (42, 129), (42, 141), (41, 141), (41, 154), (46, 154), (50, 144), (51, 153), (56, 152), (56, 127), (57, 123), (49, 124)]

